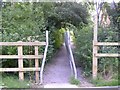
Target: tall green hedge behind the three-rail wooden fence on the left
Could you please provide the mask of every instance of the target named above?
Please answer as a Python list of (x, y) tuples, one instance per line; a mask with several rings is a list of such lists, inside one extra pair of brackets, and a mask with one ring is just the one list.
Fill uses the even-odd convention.
[[(2, 31), (0, 32), (0, 40), (2, 42), (17, 42), (17, 41), (45, 41), (45, 30), (46, 26), (46, 16), (44, 16), (42, 6), (43, 3), (3, 3), (2, 7)], [(49, 5), (49, 3), (48, 3)], [(56, 48), (58, 48), (59, 42), (54, 40), (58, 38), (58, 35), (53, 35), (52, 30), (58, 33), (56, 28), (53, 26), (49, 30), (49, 47), (47, 52), (47, 61), (52, 58)], [(59, 34), (61, 35), (61, 34)], [(59, 39), (60, 40), (60, 39)], [(61, 41), (62, 42), (62, 41)], [(60, 42), (60, 44), (61, 44)], [(55, 46), (56, 45), (56, 46)], [(55, 48), (56, 47), (56, 48)], [(39, 47), (40, 54), (44, 53), (45, 46)], [(34, 55), (34, 47), (25, 46), (23, 47), (24, 55)], [(3, 55), (17, 55), (17, 47), (2, 47)], [(1, 67), (17, 67), (18, 60), (6, 60), (0, 61)], [(39, 60), (40, 64), (42, 60)], [(24, 66), (32, 67), (34, 66), (34, 60), (24, 60)]]

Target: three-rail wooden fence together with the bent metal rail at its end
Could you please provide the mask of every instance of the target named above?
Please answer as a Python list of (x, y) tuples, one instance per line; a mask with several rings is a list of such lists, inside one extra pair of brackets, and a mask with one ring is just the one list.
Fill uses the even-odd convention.
[[(39, 55), (38, 46), (45, 45), (44, 55)], [(43, 79), (43, 69), (46, 60), (46, 53), (48, 49), (48, 31), (46, 31), (46, 42), (0, 42), (0, 46), (17, 46), (18, 55), (0, 55), (0, 59), (18, 59), (18, 68), (0, 68), (0, 72), (19, 72), (19, 80), (24, 80), (24, 72), (35, 71), (35, 80), (37, 83), (39, 81), (42, 83)], [(23, 55), (23, 46), (34, 46), (34, 55)], [(41, 68), (39, 66), (39, 59), (42, 60)], [(24, 68), (23, 59), (34, 59), (35, 67)], [(39, 74), (40, 72), (40, 74)], [(40, 77), (40, 80), (39, 80)]]

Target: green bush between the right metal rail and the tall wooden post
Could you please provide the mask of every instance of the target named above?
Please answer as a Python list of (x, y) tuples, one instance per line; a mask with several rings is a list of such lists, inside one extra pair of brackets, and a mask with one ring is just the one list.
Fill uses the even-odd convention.
[(91, 75), (92, 68), (92, 26), (85, 26), (75, 32), (75, 56), (85, 76)]

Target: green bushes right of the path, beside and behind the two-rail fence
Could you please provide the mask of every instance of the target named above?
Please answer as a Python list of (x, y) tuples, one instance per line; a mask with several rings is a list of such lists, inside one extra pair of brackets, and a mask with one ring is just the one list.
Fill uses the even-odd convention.
[[(114, 31), (114, 27), (101, 28), (99, 27), (98, 41), (109, 42), (117, 41), (117, 33)], [(92, 74), (92, 40), (93, 40), (92, 26), (83, 26), (81, 29), (75, 32), (75, 56), (78, 60), (79, 66), (83, 69), (85, 76), (91, 76)], [(99, 53), (119, 53), (118, 47), (99, 47)], [(112, 79), (114, 73), (118, 73), (118, 58), (99, 58), (98, 59), (98, 73), (104, 79)], [(118, 77), (118, 75), (117, 75)]]

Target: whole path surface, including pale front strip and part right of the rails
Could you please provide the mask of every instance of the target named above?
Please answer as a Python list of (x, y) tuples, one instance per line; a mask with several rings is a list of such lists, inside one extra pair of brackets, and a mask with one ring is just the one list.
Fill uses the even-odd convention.
[[(69, 64), (69, 59), (67, 57), (67, 52), (65, 46), (62, 46), (54, 58), (45, 66), (44, 69), (44, 84), (45, 87), (76, 87), (69, 84), (71, 77), (71, 69)], [(81, 69), (77, 68), (78, 79), (80, 80), (80, 87), (92, 87), (93, 85), (88, 83), (88, 81), (82, 77)], [(60, 84), (60, 85), (58, 85)]]

